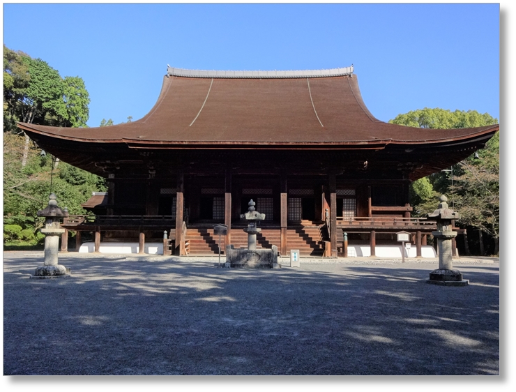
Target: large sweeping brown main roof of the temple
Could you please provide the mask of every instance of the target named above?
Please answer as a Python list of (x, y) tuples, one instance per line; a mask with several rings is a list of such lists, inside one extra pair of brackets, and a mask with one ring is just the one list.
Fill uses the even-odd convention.
[[(131, 146), (433, 144), (471, 140), (499, 126), (414, 129), (384, 123), (367, 110), (356, 75), (331, 77), (164, 77), (142, 119), (97, 128), (20, 123), (65, 140)], [(487, 137), (488, 138), (488, 137)]]

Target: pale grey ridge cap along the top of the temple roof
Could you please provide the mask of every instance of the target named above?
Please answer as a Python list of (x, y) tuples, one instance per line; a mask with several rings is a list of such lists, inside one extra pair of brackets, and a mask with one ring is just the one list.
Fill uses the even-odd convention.
[(328, 77), (352, 75), (354, 66), (326, 70), (188, 70), (174, 68), (167, 64), (168, 76), (213, 77), (234, 79), (282, 79), (296, 77)]

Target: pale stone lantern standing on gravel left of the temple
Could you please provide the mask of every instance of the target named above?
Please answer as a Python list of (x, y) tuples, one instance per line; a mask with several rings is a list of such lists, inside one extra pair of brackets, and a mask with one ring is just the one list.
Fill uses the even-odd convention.
[(59, 237), (65, 232), (61, 229), (59, 220), (68, 217), (68, 211), (63, 211), (57, 206), (56, 195), (50, 194), (48, 206), (38, 211), (38, 216), (45, 217), (45, 228), (41, 232), (45, 234), (45, 262), (43, 266), (36, 269), (36, 278), (52, 278), (66, 276), (70, 269), (58, 264), (57, 254), (59, 252)]

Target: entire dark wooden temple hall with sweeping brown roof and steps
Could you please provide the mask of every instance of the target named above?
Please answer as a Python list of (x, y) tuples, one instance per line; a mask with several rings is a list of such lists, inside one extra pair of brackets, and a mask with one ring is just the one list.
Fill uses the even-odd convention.
[[(297, 71), (296, 71), (297, 72)], [(411, 218), (409, 184), (482, 148), (498, 126), (418, 130), (383, 123), (350, 68), (284, 75), (169, 68), (151, 112), (134, 123), (78, 130), (20, 123), (45, 151), (105, 176), (105, 216), (68, 222), (104, 240), (161, 238), (176, 253), (245, 245), (250, 199), (266, 214), (259, 244), (337, 256), (350, 241), (418, 246), (434, 226)]]

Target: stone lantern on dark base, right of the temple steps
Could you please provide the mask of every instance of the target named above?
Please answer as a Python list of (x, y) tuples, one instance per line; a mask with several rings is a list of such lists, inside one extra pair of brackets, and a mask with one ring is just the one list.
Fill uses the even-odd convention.
[(427, 282), (434, 285), (467, 286), (469, 280), (462, 280), (462, 273), (458, 269), (453, 269), (452, 262), (452, 239), (457, 236), (452, 230), (452, 220), (460, 216), (448, 208), (448, 197), (442, 195), (439, 200), (439, 209), (428, 214), (428, 219), (437, 221), (437, 231), (432, 234), (437, 239), (439, 269), (430, 273)]

